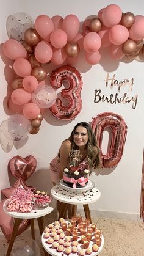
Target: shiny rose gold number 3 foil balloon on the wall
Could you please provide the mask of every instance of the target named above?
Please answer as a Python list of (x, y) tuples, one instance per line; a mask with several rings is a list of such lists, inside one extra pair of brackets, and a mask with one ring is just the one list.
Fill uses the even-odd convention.
[(68, 104), (65, 106), (62, 100), (57, 98), (56, 103), (49, 109), (57, 119), (72, 120), (82, 108), (82, 77), (76, 68), (65, 65), (52, 71), (50, 77), (51, 86), (56, 89), (62, 86), (63, 81), (67, 81), (69, 87), (62, 89), (61, 96), (68, 101)]

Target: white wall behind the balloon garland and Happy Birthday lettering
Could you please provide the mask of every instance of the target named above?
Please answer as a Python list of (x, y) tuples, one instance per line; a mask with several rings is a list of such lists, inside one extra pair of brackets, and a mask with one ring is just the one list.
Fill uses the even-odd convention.
[[(61, 15), (63, 18), (70, 13), (77, 15), (80, 21), (92, 15), (97, 15), (98, 11), (112, 4), (111, 1), (37, 1), (37, 0), (1, 0), (0, 9), (0, 38), (1, 43), (8, 39), (6, 32), (6, 20), (9, 15), (16, 12), (26, 12), (37, 18), (40, 14), (46, 14), (49, 17)], [(121, 7), (123, 12), (132, 12), (135, 15), (144, 15), (144, 2), (135, 1), (115, 1)], [(7, 94), (7, 82), (5, 81), (4, 68), (5, 64), (1, 61), (1, 115), (0, 122), (7, 118), (3, 108), (3, 100)], [(128, 61), (129, 62), (129, 61)], [(51, 182), (49, 182), (49, 162), (56, 156), (60, 144), (70, 135), (70, 131), (78, 122), (91, 122), (92, 118), (101, 112), (115, 112), (123, 117), (128, 125), (128, 134), (124, 147), (123, 157), (115, 169), (97, 170), (93, 173), (93, 180), (96, 187), (101, 191), (101, 199), (90, 205), (91, 210), (107, 211), (111, 213), (132, 214), (139, 216), (140, 208), (140, 185), (142, 174), (142, 155), (143, 155), (143, 62), (134, 60), (132, 62), (118, 62), (113, 60), (106, 50), (103, 52), (101, 62), (92, 67), (86, 63), (77, 63), (77, 70), (82, 75), (82, 111), (71, 121), (58, 120), (49, 113), (45, 112), (45, 120), (40, 127), (40, 132), (36, 135), (29, 135), (26, 144), (15, 144), (12, 151), (5, 153), (0, 148), (1, 156), (1, 180), (0, 189), (10, 186), (7, 174), (7, 163), (16, 155), (26, 157), (33, 155), (37, 159), (37, 170), (35, 174), (29, 178), (29, 184), (37, 186), (39, 189), (49, 190)], [(49, 65), (49, 72), (56, 67)], [(113, 90), (105, 86), (106, 75), (112, 77), (116, 74), (118, 81), (134, 78), (134, 87), (129, 97), (138, 95), (137, 107), (132, 109), (132, 103), (127, 104), (110, 104), (110, 103), (94, 103), (95, 89), (101, 89), (103, 94), (109, 96), (110, 93), (115, 94), (118, 89)], [(128, 88), (121, 89), (121, 95), (128, 92)], [(104, 134), (106, 137), (107, 134)], [(106, 143), (105, 143), (106, 144)], [(104, 146), (106, 150), (106, 145)], [(27, 183), (28, 184), (28, 183)], [(49, 188), (48, 188), (49, 187)]]

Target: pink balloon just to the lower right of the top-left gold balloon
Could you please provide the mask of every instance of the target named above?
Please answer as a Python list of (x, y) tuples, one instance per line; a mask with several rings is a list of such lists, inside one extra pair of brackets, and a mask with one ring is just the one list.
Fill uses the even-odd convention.
[(52, 48), (46, 41), (41, 41), (35, 47), (35, 58), (40, 63), (47, 63), (52, 58)]

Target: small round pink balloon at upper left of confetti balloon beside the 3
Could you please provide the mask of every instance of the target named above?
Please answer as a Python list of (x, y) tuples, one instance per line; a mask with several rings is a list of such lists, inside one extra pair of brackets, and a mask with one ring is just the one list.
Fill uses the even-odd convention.
[(23, 87), (27, 90), (27, 92), (33, 92), (38, 87), (37, 78), (34, 76), (26, 76), (23, 79)]

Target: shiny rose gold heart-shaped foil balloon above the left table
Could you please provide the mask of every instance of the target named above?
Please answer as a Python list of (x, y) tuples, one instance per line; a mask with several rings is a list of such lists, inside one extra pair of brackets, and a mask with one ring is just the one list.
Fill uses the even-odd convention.
[(33, 174), (36, 167), (37, 160), (31, 155), (26, 156), (26, 158), (14, 156), (8, 163), (8, 170), (10, 170), (12, 175), (17, 178), (21, 177), (24, 181)]

